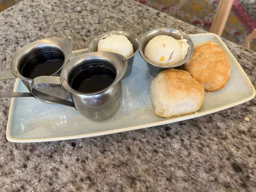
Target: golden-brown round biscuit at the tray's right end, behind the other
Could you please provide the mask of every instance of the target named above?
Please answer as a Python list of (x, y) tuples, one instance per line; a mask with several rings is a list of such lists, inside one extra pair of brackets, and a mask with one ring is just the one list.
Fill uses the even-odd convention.
[(191, 59), (184, 64), (184, 69), (199, 83), (202, 83), (206, 91), (222, 89), (230, 77), (228, 56), (219, 45), (212, 41), (197, 46)]

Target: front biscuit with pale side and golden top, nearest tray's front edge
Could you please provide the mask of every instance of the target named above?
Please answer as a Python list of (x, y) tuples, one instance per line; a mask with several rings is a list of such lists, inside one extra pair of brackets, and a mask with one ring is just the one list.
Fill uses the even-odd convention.
[(150, 98), (155, 114), (174, 117), (199, 110), (204, 100), (204, 87), (180, 69), (166, 69), (153, 79)]

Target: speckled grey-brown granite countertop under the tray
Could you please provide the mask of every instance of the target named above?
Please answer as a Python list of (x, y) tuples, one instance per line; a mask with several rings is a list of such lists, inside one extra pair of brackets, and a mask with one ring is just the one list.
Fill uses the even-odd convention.
[[(106, 31), (159, 26), (204, 32), (135, 1), (23, 0), (0, 13), (0, 71), (41, 38), (66, 36), (76, 50)], [(256, 53), (225, 43), (255, 86)], [(0, 191), (256, 191), (255, 98), (178, 123), (46, 143), (7, 141), (10, 101), (0, 98)]]

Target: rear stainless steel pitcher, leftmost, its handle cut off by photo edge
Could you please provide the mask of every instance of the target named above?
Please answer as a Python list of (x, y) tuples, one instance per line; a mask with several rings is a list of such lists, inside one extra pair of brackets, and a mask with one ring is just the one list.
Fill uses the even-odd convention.
[[(59, 76), (61, 69), (71, 57), (72, 43), (63, 37), (52, 37), (31, 42), (30, 44), (27, 44), (19, 49), (11, 61), (11, 72), (0, 74), (0, 80), (19, 78), (25, 84), (30, 93), (0, 92), (0, 97), (33, 97), (31, 94), (31, 82), (33, 79), (23, 76), (21, 73), (21, 68), (26, 60), (29, 60), (31, 57), (40, 53), (48, 54), (48, 52), (61, 53), (64, 56), (64, 61), (61, 67), (56, 72), (51, 74), (51, 76)], [(48, 94), (61, 94), (62, 98), (70, 97), (69, 93), (60, 85), (55, 85), (52, 87), (48, 86), (47, 88), (38, 87), (38, 89)], [(44, 99), (43, 101), (47, 101), (47, 99)]]

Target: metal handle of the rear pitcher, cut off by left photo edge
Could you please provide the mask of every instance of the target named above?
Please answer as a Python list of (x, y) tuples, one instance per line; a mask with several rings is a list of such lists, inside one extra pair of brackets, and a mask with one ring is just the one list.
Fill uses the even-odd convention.
[[(0, 74), (0, 80), (5, 79), (14, 79), (16, 76), (12, 72)], [(22, 93), (22, 92), (1, 92), (0, 97), (34, 97), (31, 93)]]

